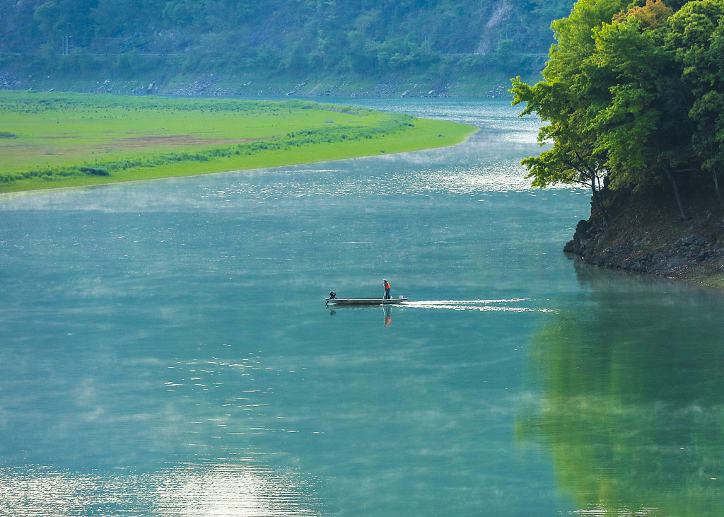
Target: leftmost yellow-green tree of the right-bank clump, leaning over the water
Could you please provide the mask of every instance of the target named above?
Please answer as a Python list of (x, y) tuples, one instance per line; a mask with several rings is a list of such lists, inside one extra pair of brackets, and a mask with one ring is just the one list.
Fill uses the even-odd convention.
[(580, 183), (591, 188), (594, 206), (607, 220), (601, 189), (609, 174), (605, 148), (591, 125), (595, 115), (610, 100), (610, 93), (592, 80), (590, 58), (596, 51), (595, 34), (620, 12), (620, 0), (579, 0), (568, 18), (552, 23), (557, 44), (543, 71), (544, 80), (534, 86), (513, 80), (513, 104), (526, 103), (521, 116), (536, 113), (547, 125), (541, 127), (538, 141), (552, 140), (550, 151), (523, 160), (538, 188), (555, 183)]

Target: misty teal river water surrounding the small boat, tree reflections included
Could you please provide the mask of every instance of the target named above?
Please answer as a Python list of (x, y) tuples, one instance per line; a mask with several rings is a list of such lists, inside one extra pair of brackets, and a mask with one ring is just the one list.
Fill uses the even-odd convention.
[(724, 515), (722, 294), (564, 256), (508, 101), (355, 102), (481, 130), (0, 196), (0, 515)]

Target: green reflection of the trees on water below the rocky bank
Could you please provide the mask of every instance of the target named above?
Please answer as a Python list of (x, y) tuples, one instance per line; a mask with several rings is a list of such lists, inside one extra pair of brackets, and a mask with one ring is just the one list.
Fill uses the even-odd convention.
[(534, 337), (542, 393), (518, 436), (550, 447), (560, 488), (586, 515), (724, 515), (722, 300), (671, 283), (678, 303), (657, 302), (662, 286), (636, 277), (622, 296), (620, 274), (576, 270), (590, 303), (557, 311)]

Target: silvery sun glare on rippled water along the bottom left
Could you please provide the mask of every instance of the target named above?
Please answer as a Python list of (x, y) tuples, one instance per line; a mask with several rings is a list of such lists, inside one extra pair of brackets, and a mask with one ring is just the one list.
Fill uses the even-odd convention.
[(147, 474), (0, 469), (3, 516), (319, 516), (323, 503), (314, 492), (313, 482), (296, 474), (251, 463)]

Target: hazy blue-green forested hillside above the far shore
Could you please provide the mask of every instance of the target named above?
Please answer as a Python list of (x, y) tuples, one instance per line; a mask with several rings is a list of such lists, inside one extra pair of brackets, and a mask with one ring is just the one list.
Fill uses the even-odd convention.
[[(0, 0), (6, 77), (434, 77), (542, 70), (572, 0)], [(0, 80), (0, 85), (2, 81)], [(5, 86), (6, 88), (8, 85)]]

